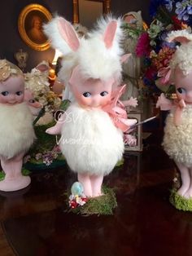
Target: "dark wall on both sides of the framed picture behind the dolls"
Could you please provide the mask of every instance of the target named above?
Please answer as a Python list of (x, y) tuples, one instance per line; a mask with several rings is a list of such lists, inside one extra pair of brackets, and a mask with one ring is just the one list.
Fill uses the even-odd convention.
[[(111, 0), (111, 11), (116, 15), (123, 15), (128, 11), (142, 11), (144, 20), (148, 20), (148, 5), (150, 0)], [(46, 7), (52, 14), (55, 12), (63, 15), (66, 19), (72, 21), (72, 0), (4, 0), (1, 1), (0, 8), (0, 58), (6, 58), (16, 64), (14, 53), (20, 48), (28, 52), (28, 62), (26, 71), (31, 70), (41, 60), (52, 60), (55, 51), (48, 49), (46, 51), (35, 51), (25, 44), (20, 38), (17, 29), (17, 20), (20, 11), (30, 3), (38, 3)]]

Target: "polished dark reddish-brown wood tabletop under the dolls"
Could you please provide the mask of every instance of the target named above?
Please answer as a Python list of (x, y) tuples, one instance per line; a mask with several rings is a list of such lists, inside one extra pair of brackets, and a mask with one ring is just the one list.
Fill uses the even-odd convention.
[(175, 166), (160, 142), (159, 134), (151, 135), (143, 152), (127, 153), (105, 178), (117, 196), (112, 216), (68, 213), (64, 192), (76, 175), (67, 166), (32, 174), (20, 192), (1, 192), (0, 255), (192, 255), (192, 213), (168, 201)]

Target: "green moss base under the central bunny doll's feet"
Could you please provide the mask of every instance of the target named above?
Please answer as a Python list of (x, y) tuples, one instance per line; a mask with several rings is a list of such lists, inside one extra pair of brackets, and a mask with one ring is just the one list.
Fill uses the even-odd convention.
[(84, 216), (89, 215), (112, 215), (117, 206), (116, 194), (111, 188), (103, 187), (103, 196), (90, 198), (83, 206), (70, 209), (73, 213)]

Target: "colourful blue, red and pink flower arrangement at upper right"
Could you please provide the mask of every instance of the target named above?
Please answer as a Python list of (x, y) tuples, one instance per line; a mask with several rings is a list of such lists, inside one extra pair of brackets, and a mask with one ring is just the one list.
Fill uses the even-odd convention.
[(166, 42), (166, 38), (172, 30), (190, 30), (192, 1), (151, 0), (150, 15), (151, 24), (140, 34), (135, 51), (143, 58), (142, 80), (148, 93), (160, 90), (168, 95), (174, 92), (174, 86), (168, 84), (166, 74), (177, 44)]

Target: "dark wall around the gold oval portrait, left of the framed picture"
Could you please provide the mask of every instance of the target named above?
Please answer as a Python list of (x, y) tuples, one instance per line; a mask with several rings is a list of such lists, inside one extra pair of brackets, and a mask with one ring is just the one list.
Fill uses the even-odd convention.
[(20, 33), (17, 29), (17, 20), (20, 11), (30, 3), (38, 3), (46, 7), (51, 13), (59, 13), (66, 19), (72, 21), (72, 1), (71, 0), (4, 0), (1, 2), (0, 8), (0, 58), (10, 60), (16, 64), (14, 53), (20, 48), (28, 52), (27, 71), (34, 68), (41, 60), (52, 60), (55, 54), (53, 49), (46, 51), (35, 51), (25, 44), (20, 38)]

